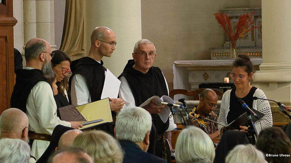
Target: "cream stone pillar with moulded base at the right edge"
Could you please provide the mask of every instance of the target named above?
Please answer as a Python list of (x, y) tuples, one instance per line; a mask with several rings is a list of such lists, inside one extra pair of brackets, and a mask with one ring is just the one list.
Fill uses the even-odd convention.
[(290, 6), (290, 0), (262, 0), (263, 63), (254, 75), (254, 86), (282, 102), (291, 102)]

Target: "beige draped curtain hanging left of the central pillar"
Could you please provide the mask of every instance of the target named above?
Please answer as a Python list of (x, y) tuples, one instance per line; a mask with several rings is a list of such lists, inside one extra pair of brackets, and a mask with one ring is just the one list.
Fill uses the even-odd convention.
[(66, 0), (65, 21), (60, 50), (71, 60), (84, 56), (84, 2)]

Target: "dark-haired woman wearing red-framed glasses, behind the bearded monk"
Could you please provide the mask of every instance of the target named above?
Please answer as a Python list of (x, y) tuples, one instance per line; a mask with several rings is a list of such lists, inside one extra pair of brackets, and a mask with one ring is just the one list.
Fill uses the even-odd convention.
[(70, 57), (68, 57), (68, 55), (66, 55), (64, 52), (60, 50), (54, 50), (53, 53), (54, 56), (52, 57), (51, 62), (52, 69), (56, 74), (56, 79), (52, 83), (52, 88), (54, 91), (56, 106), (57, 108), (61, 108), (70, 105), (67, 94), (68, 79), (66, 78), (66, 76), (71, 73), (70, 70), (71, 59)]

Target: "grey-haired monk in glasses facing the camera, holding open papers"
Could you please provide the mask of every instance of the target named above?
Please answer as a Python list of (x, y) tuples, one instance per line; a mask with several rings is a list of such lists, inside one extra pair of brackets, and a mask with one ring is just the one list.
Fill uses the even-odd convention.
[[(118, 77), (121, 81), (119, 98), (123, 99), (127, 107), (140, 106), (152, 96), (162, 97), (163, 95), (169, 95), (168, 84), (164, 74), (160, 68), (152, 66), (156, 57), (155, 52), (154, 44), (148, 39), (141, 39), (134, 45), (133, 59), (128, 61), (123, 73)], [(145, 108), (151, 114), (153, 122), (148, 153), (160, 157), (160, 145), (157, 145), (157, 148), (155, 147), (153, 133), (166, 134), (168, 142), (171, 144), (171, 130), (177, 127), (173, 117), (168, 118), (167, 122), (164, 123), (157, 114), (164, 107), (155, 105), (152, 102), (148, 108)]]

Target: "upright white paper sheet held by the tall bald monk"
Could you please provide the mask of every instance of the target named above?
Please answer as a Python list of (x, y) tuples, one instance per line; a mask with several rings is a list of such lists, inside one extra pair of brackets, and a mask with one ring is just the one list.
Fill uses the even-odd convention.
[(117, 77), (115, 77), (107, 68), (101, 99), (105, 99), (107, 97), (117, 98), (120, 83), (120, 80), (117, 79)]

